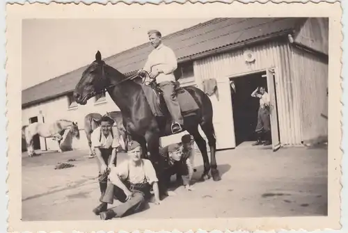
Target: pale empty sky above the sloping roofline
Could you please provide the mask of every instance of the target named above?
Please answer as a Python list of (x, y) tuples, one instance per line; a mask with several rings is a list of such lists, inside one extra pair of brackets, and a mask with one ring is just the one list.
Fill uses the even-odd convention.
[(22, 24), (22, 90), (205, 19), (26, 19)]

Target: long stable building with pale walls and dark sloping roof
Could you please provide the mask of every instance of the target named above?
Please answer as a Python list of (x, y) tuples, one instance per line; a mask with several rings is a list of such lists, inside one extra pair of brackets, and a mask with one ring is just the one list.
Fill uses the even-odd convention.
[[(218, 150), (255, 140), (258, 99), (251, 93), (258, 86), (270, 95), (274, 150), (327, 136), (328, 18), (217, 18), (162, 39), (177, 56), (175, 75), (182, 86), (205, 90), (205, 81), (215, 81), (210, 99)], [(151, 50), (145, 43), (104, 61), (131, 76)], [(85, 69), (23, 90), (22, 124), (64, 118), (77, 121), (82, 130), (88, 113), (119, 111), (107, 93), (85, 106), (74, 102), (72, 92)], [(88, 148), (82, 134), (74, 148)], [(36, 149), (56, 150), (54, 140), (36, 140)]]

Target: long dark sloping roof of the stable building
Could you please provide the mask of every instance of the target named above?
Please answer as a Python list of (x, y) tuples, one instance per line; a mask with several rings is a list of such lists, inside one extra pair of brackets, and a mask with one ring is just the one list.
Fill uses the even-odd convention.
[[(164, 45), (173, 49), (180, 63), (189, 56), (296, 29), (301, 22), (303, 22), (303, 18), (295, 17), (216, 18), (166, 35), (162, 41)], [(148, 42), (105, 58), (104, 61), (120, 72), (130, 74), (141, 69), (150, 51), (152, 51), (152, 47)], [(85, 69), (86, 66), (80, 67), (60, 77), (23, 90), (22, 107), (70, 93), (74, 90)]]

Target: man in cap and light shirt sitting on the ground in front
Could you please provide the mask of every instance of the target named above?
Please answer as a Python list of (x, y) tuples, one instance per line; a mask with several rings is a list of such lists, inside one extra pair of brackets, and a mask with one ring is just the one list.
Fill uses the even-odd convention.
[[(127, 149), (127, 161), (111, 168), (110, 182), (100, 200), (106, 209), (100, 212), (102, 220), (121, 218), (143, 210), (145, 202), (150, 199), (151, 186), (155, 193), (155, 204), (160, 204), (158, 179), (151, 161), (141, 159), (141, 145), (136, 141), (129, 142)], [(107, 209), (108, 203), (113, 204), (113, 198), (123, 203)]]

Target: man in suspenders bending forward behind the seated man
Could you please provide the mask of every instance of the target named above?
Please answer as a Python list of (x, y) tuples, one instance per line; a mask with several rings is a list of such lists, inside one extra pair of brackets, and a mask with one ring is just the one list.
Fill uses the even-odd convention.
[[(116, 166), (117, 147), (120, 145), (118, 130), (113, 129), (114, 120), (104, 115), (100, 119), (100, 127), (97, 127), (90, 139), (92, 147), (97, 157), (97, 166), (99, 169), (99, 187), (101, 196), (104, 195), (108, 182), (108, 175), (111, 168)], [(100, 211), (106, 211), (105, 205), (102, 203), (93, 212), (99, 214)]]

